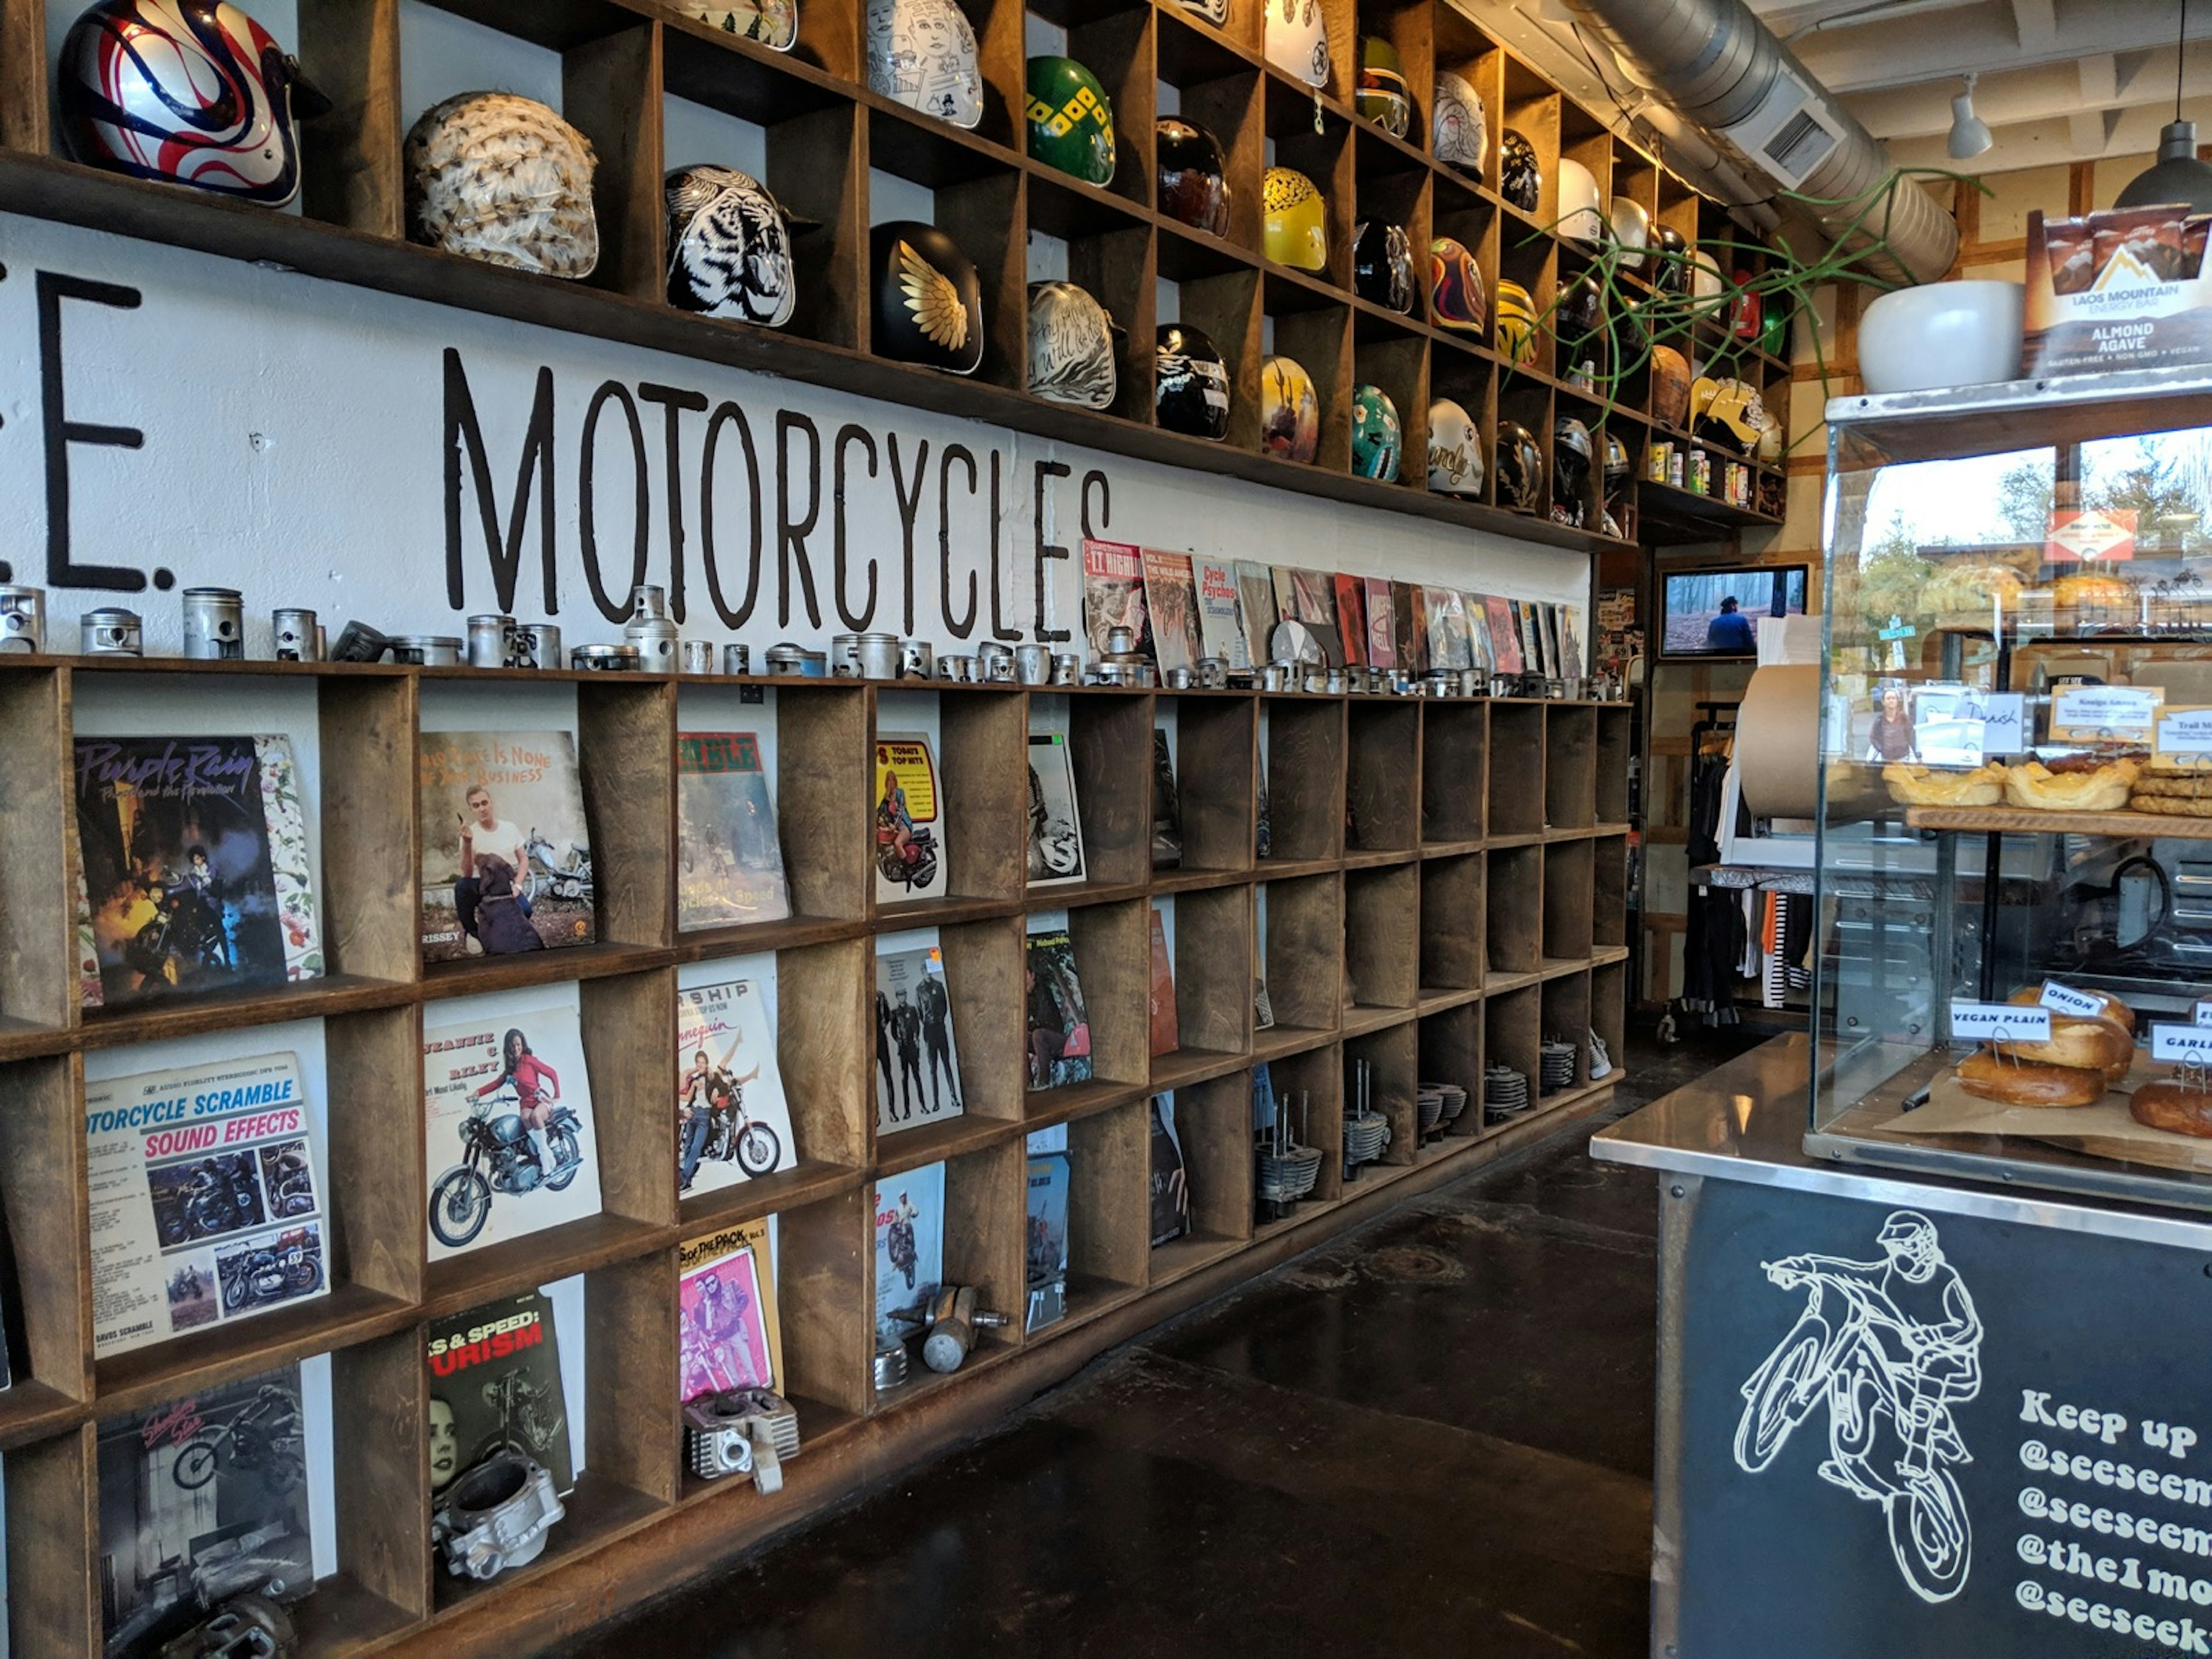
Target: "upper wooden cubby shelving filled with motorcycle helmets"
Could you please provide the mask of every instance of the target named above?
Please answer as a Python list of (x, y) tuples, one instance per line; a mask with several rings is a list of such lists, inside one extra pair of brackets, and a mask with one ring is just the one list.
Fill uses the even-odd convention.
[[(1369, 0), (1365, 7), (1325, 0), (1336, 69), (1318, 100), (1303, 82), (1265, 62), (1261, 7), (1239, 9), (1232, 31), (1223, 33), (1175, 0), (1099, 0), (1093, 7), (1040, 0), (1026, 11), (1013, 0), (960, 0), (975, 27), (987, 80), (987, 115), (973, 133), (867, 91), (860, 13), (849, 4), (801, 7), (799, 44), (779, 55), (655, 0), (422, 0), (504, 38), (522, 58), (557, 64), (562, 113), (599, 155), (599, 268), (584, 283), (564, 283), (493, 270), (405, 239), (400, 142), (429, 100), (409, 97), (400, 73), (403, 38), (411, 18), (420, 15), (400, 0), (299, 4), (299, 40), (288, 44), (338, 104), (334, 115), (305, 124), (301, 133), (303, 215), (139, 184), (62, 159), (42, 66), (46, 13), (66, 2), (0, 0), (0, 62), (11, 71), (0, 77), (0, 210), (274, 263), (1110, 453), (1582, 551), (1624, 544), (1599, 533), (1595, 476), (1584, 504), (1590, 529), (1504, 507), (1495, 498), (1495, 480), (1480, 502), (1427, 489), (1420, 458), (1429, 445), (1431, 398), (1451, 396), (1469, 409), (1484, 431), (1486, 462), (1500, 420), (1526, 425), (1544, 447), (1546, 476), (1553, 422), (1566, 414), (1584, 420), (1599, 445), (1606, 429), (1619, 436), (1637, 480), (1646, 476), (1652, 438), (1699, 445), (1688, 434), (1655, 425), (1648, 374), (1630, 376), (1610, 396), (1577, 392), (1568, 383), (1573, 365), (1557, 361), (1562, 349), (1548, 336), (1540, 338), (1533, 365), (1511, 365), (1495, 349), (1493, 332), (1471, 338), (1431, 327), (1425, 301), (1416, 314), (1398, 316), (1358, 299), (1352, 292), (1354, 226), (1369, 217), (1402, 223), (1416, 248), (1422, 288), (1429, 239), (1458, 237), (1473, 250), (1493, 294), (1500, 276), (1513, 276), (1544, 312), (1562, 283), (1588, 263), (1586, 250), (1551, 230), (1559, 217), (1559, 157), (1571, 155), (1590, 168), (1601, 192), (1639, 201), (1655, 226), (1674, 226), (1692, 243), (1701, 234), (1750, 241), (1747, 232), (1730, 230), (1721, 208), (1613, 137), (1595, 115), (1564, 100), (1475, 22), (1431, 0)], [(1068, 51), (1099, 75), (1115, 100), (1119, 166), (1106, 188), (1079, 184), (1026, 155), (1026, 13), (1064, 27)], [(1363, 31), (1387, 35), (1398, 46), (1420, 113), (1413, 142), (1396, 139), (1352, 111)], [(1491, 157), (1506, 126), (1531, 139), (1544, 166), (1537, 212), (1524, 215), (1504, 204), (1491, 184), (1429, 159), (1429, 86), (1438, 69), (1467, 75), (1482, 93), (1491, 117)], [(1161, 113), (1164, 86), (1183, 117), (1201, 122), (1223, 142), (1234, 192), (1228, 237), (1190, 230), (1155, 208), (1152, 122)], [(765, 157), (765, 184), (794, 215), (821, 223), (796, 239), (801, 305), (785, 330), (701, 319), (666, 303), (664, 166), (732, 159), (670, 153), (670, 100), (745, 124)], [(1327, 197), (1329, 268), (1321, 274), (1274, 265), (1261, 252), (1261, 175), (1270, 148), (1281, 166), (1305, 170)], [(867, 232), (874, 219), (902, 217), (878, 199), (887, 195), (876, 188), (878, 175), (929, 190), (936, 221), (982, 276), (989, 347), (971, 378), (889, 363), (869, 352)], [(1068, 279), (1088, 288), (1126, 330), (1121, 392), (1108, 411), (1029, 396), (1026, 285), (1044, 274), (1044, 237), (1064, 246)], [(1152, 422), (1161, 283), (1172, 285), (1168, 292), (1179, 321), (1203, 327), (1230, 358), (1237, 403), (1228, 442), (1188, 438)], [(1259, 376), (1270, 336), (1274, 349), (1296, 356), (1321, 389), (1316, 465), (1261, 453)], [(1712, 338), (1692, 354), (1719, 343), (1712, 330)], [(1772, 411), (1787, 411), (1785, 363), (1743, 349), (1736, 372), (1763, 383)], [(1349, 471), (1352, 392), (1360, 383), (1380, 385), (1398, 405), (1409, 460), (1396, 484)], [(1486, 465), (1486, 471), (1495, 473), (1495, 467)], [(1778, 491), (1776, 469), (1756, 471)], [(1626, 544), (1712, 540), (1730, 529), (1781, 522), (1728, 507), (1719, 495), (1666, 484), (1637, 484), (1635, 498), (1635, 522), (1624, 524)]]

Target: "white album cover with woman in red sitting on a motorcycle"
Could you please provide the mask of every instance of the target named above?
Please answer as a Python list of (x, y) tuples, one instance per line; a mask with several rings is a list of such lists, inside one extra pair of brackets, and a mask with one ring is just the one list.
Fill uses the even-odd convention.
[(427, 1029), (422, 1126), (427, 1168), (438, 1170), (431, 1261), (599, 1214), (597, 1119), (575, 1009)]

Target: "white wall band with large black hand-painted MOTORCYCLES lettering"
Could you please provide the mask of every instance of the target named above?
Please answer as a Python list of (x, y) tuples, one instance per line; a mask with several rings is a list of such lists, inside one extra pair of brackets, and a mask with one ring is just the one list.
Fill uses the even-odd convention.
[[(181, 639), (175, 591), (336, 635), (1082, 635), (1082, 538), (1588, 602), (1588, 557), (664, 352), (0, 215), (0, 580)], [(1418, 465), (1418, 462), (1409, 462)], [(1586, 630), (1584, 630), (1586, 633)]]

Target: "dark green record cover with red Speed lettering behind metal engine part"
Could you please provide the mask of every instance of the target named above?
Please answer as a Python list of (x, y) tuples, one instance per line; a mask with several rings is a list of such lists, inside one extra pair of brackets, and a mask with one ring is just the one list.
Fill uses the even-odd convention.
[(429, 1371), (429, 1489), (442, 1493), (495, 1451), (520, 1451), (575, 1491), (568, 1394), (560, 1334), (542, 1290), (434, 1318), (422, 1345)]

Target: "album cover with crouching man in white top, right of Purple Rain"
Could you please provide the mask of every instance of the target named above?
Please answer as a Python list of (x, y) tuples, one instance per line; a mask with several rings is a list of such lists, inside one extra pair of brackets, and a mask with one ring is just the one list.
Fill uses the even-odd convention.
[(575, 732), (422, 732), (422, 960), (591, 945)]

